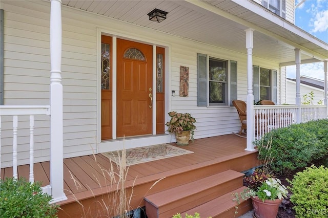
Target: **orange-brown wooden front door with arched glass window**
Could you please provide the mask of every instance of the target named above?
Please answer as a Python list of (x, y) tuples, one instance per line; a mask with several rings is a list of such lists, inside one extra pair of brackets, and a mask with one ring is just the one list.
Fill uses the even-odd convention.
[(117, 39), (117, 137), (152, 134), (152, 48)]

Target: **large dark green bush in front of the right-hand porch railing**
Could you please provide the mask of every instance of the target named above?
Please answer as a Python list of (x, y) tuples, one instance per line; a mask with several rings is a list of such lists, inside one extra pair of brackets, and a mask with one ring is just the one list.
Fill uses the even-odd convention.
[(254, 142), (259, 160), (270, 157), (270, 170), (278, 175), (311, 165), (328, 155), (328, 120), (292, 124), (273, 129)]

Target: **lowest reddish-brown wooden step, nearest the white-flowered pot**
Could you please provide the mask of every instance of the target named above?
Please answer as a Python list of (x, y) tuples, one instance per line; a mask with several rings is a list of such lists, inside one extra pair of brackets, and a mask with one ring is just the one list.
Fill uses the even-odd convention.
[[(184, 217), (186, 213), (194, 214), (195, 212), (197, 212), (200, 214), (201, 217), (204, 218), (210, 216), (212, 218), (239, 217), (242, 214), (252, 210), (253, 208), (251, 199), (245, 201), (240, 198), (239, 205), (237, 205), (237, 202), (232, 200), (234, 198), (234, 193), (240, 193), (245, 188), (247, 187), (243, 186), (227, 194), (223, 194), (222, 196), (213, 199), (212, 201), (199, 205), (193, 209), (184, 211), (181, 213), (181, 215), (183, 215)], [(235, 208), (236, 206), (238, 207), (237, 210)], [(237, 212), (236, 216), (234, 216), (235, 212)]]

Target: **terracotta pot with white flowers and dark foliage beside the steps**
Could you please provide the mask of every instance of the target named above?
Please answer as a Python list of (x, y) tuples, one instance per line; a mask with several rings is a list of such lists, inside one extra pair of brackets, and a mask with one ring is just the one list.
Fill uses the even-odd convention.
[(287, 197), (288, 190), (280, 180), (261, 169), (244, 177), (248, 186), (240, 195), (246, 200), (252, 198), (255, 218), (276, 218), (279, 205)]

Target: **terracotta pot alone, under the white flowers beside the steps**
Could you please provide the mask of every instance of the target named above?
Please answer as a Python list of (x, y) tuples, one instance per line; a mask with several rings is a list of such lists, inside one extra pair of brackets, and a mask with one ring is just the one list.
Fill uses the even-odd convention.
[(265, 200), (264, 202), (257, 197), (252, 197), (255, 218), (276, 218), (279, 205), (282, 199)]

